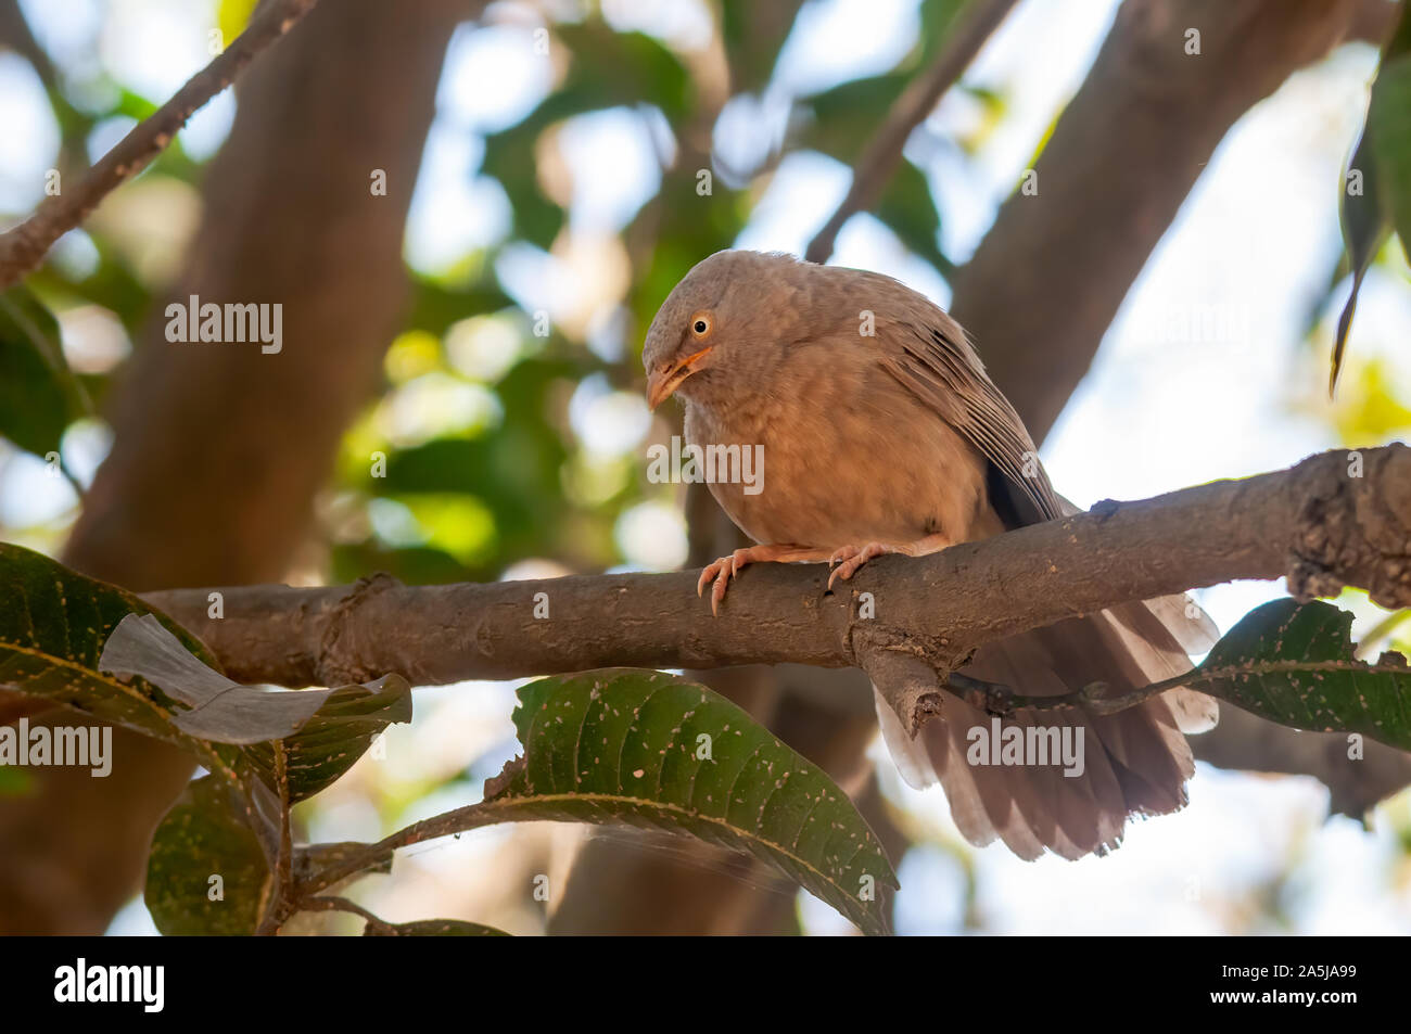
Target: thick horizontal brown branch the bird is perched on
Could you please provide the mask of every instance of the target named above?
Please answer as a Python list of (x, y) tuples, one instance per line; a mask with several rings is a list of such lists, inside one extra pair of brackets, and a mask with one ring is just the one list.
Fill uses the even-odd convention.
[[(202, 636), (231, 677), (288, 686), (511, 679), (614, 664), (875, 667), (888, 655), (948, 671), (975, 647), (1029, 628), (1233, 578), (1287, 577), (1300, 597), (1360, 585), (1411, 605), (1411, 449), (1324, 453), (1242, 481), (964, 543), (919, 560), (883, 557), (825, 595), (821, 566), (761, 564), (713, 619), (696, 574), (605, 574), (492, 585), (353, 590), (255, 585), (147, 600)], [(873, 618), (861, 618), (861, 592)], [(545, 597), (538, 597), (545, 594)], [(549, 616), (536, 618), (547, 600)], [(540, 611), (542, 612), (542, 611)]]

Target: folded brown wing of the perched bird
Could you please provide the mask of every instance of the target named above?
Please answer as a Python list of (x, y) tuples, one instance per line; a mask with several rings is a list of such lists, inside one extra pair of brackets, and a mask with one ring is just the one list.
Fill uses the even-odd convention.
[[(1016, 511), (1006, 523), (1036, 523), (1064, 515), (1038, 451), (1019, 413), (944, 313), (878, 327), (882, 363), (903, 385), (935, 408), (1000, 474)], [(998, 499), (995, 502), (999, 502)]]

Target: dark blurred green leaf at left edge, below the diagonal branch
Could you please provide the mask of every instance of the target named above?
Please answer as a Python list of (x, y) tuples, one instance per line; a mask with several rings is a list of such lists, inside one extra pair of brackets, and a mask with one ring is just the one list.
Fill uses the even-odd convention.
[(59, 346), (59, 324), (24, 286), (0, 295), (0, 434), (47, 456), (87, 401)]

